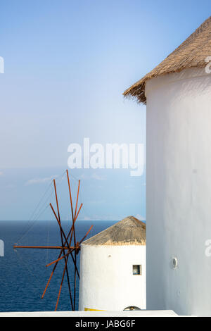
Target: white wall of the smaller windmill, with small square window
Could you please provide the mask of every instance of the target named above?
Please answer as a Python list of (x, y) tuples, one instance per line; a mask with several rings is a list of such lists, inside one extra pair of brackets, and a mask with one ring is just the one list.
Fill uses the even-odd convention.
[[(142, 275), (133, 275), (133, 265), (142, 265)], [(123, 311), (127, 306), (146, 309), (146, 246), (82, 244), (79, 311)]]

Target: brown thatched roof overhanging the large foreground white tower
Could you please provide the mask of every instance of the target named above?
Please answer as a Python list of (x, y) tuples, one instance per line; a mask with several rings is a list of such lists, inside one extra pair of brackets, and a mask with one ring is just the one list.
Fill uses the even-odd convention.
[(146, 80), (167, 73), (179, 73), (186, 68), (203, 68), (207, 65), (205, 62), (207, 56), (211, 56), (211, 16), (164, 61), (126, 89), (123, 95), (134, 97), (138, 102), (146, 104)]

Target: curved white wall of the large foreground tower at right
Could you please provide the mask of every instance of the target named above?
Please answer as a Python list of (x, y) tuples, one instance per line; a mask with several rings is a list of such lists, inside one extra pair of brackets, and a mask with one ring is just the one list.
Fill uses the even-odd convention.
[(211, 316), (211, 75), (153, 78), (146, 98), (147, 308)]

